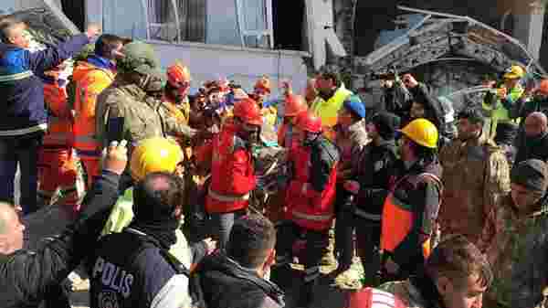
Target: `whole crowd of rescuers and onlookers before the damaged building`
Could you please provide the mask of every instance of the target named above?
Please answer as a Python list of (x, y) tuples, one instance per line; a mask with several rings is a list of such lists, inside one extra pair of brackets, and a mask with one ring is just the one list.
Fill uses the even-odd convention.
[[(189, 67), (98, 27), (31, 53), (5, 18), (0, 38), (2, 307), (69, 307), (79, 266), (92, 308), (284, 307), (295, 283), (312, 307), (330, 255), (333, 277), (364, 268), (341, 307), (544, 305), (548, 80), (524, 87), (520, 65), (448, 122), (411, 74), (366, 114), (332, 67), (302, 95), (266, 76), (191, 93)], [(73, 223), (24, 249), (20, 218), (53, 205)]]

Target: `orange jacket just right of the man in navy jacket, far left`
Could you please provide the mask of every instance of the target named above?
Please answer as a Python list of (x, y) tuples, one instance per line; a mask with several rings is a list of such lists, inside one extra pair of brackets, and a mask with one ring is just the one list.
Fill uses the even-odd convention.
[(44, 147), (72, 147), (72, 114), (68, 108), (68, 95), (58, 83), (44, 84), (44, 101), (50, 115), (47, 118), (47, 133)]

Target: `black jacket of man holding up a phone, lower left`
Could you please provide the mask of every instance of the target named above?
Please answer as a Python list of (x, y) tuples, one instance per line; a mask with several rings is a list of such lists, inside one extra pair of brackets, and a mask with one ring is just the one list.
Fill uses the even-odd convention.
[(84, 199), (80, 218), (58, 237), (45, 239), (35, 251), (0, 256), (0, 307), (37, 307), (92, 252), (118, 198), (119, 177), (103, 171)]

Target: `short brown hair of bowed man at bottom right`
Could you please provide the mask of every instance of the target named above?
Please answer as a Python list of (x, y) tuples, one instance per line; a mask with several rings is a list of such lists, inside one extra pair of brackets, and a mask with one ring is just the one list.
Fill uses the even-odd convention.
[(465, 286), (470, 275), (478, 275), (484, 287), (493, 281), (485, 255), (462, 235), (440, 242), (427, 259), (425, 270), (430, 278), (446, 277), (458, 287)]

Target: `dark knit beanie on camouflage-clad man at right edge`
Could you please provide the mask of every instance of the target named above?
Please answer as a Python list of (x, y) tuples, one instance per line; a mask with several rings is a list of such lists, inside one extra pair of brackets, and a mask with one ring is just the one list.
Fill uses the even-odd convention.
[(511, 183), (543, 193), (546, 190), (546, 164), (539, 159), (520, 162), (511, 169)]

